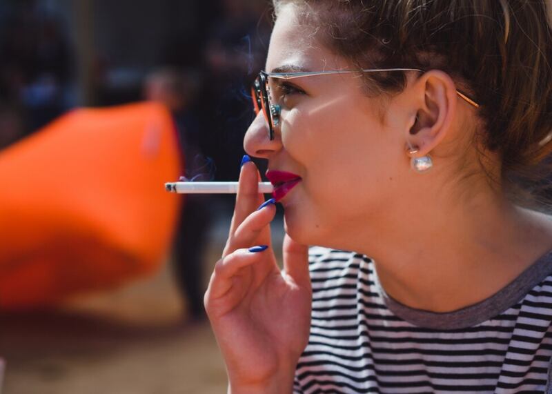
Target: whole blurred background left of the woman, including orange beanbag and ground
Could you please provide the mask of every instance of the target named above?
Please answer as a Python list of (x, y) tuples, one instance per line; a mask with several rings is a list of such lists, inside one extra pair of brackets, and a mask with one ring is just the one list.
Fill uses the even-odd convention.
[(271, 12), (0, 0), (1, 393), (226, 391), (202, 295), (235, 197), (163, 182), (237, 180)]

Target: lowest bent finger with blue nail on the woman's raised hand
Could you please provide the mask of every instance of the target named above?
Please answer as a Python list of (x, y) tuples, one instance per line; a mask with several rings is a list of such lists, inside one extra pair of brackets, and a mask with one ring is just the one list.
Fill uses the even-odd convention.
[[(220, 259), (215, 264), (215, 270), (206, 292), (206, 303), (226, 295), (234, 286), (234, 279), (247, 268), (264, 259), (268, 246), (254, 246), (249, 249), (238, 249)], [(243, 287), (239, 290), (246, 290)]]

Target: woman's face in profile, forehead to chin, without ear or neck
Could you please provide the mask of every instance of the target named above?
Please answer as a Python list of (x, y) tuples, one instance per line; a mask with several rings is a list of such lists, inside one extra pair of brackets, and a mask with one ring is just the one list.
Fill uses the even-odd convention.
[[(315, 28), (299, 22), (298, 12), (292, 5), (280, 10), (266, 70), (351, 70), (319, 43)], [(286, 231), (298, 242), (344, 247), (400, 199), (407, 131), (363, 87), (357, 74), (273, 79), (273, 104), (282, 106), (275, 139), (268, 139), (262, 112), (248, 129), (249, 155), (268, 159), (268, 170), (301, 177), (280, 201)]]

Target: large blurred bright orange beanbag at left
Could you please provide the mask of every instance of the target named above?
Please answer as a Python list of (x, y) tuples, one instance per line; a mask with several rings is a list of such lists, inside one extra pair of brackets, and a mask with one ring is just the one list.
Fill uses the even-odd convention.
[(181, 199), (170, 114), (82, 109), (0, 151), (0, 309), (53, 304), (152, 273)]

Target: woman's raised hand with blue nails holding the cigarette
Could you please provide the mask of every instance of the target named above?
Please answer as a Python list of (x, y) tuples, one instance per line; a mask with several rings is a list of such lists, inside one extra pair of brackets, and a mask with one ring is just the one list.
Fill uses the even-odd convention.
[[(257, 191), (259, 173), (244, 164), (228, 242), (205, 294), (205, 306), (226, 362), (230, 388), (291, 391), (308, 342), (311, 280), (308, 247), (284, 238), (284, 271), (270, 245), (276, 208)], [(249, 248), (268, 248), (251, 252)], [(270, 391), (270, 390), (268, 390)], [(260, 391), (257, 391), (260, 392)]]

